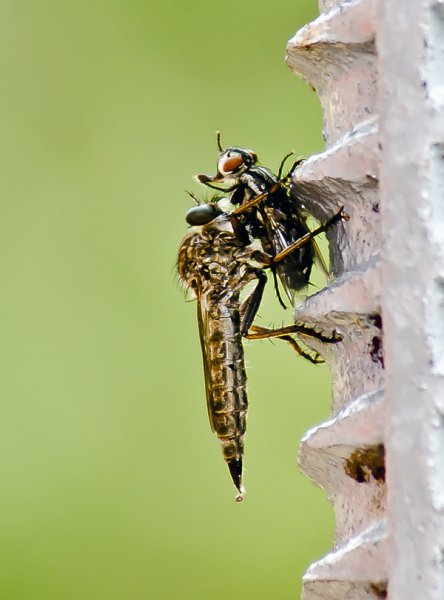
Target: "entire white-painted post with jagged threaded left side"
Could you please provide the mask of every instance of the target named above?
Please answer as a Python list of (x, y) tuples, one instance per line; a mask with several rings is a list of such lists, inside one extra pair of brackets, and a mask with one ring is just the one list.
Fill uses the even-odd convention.
[(296, 311), (344, 334), (332, 416), (301, 444), (336, 515), (303, 596), (443, 599), (444, 0), (320, 8), (288, 63), (320, 97), (327, 149), (294, 189), (321, 221), (341, 205), (351, 220), (330, 234), (334, 282)]

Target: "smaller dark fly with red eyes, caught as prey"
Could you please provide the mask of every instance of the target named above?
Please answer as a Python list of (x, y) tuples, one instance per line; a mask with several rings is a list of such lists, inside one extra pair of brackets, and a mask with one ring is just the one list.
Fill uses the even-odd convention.
[[(327, 271), (314, 236), (341, 219), (347, 220), (348, 215), (341, 208), (327, 223), (310, 232), (301, 207), (290, 198), (288, 189), (291, 174), (301, 160), (296, 161), (282, 177), (285, 161), (291, 154), (285, 156), (278, 175), (274, 175), (269, 169), (257, 165), (257, 155), (252, 150), (237, 147), (224, 150), (219, 132), (217, 144), (220, 155), (216, 175), (200, 174), (197, 179), (208, 187), (231, 192), (230, 201), (236, 207), (231, 213), (232, 219), (237, 219), (251, 239), (259, 239), (264, 251), (274, 258), (271, 271), (278, 299), (285, 308), (276, 273), (293, 302), (294, 293), (309, 284), (315, 258)], [(218, 183), (229, 187), (220, 188), (216, 185)]]

